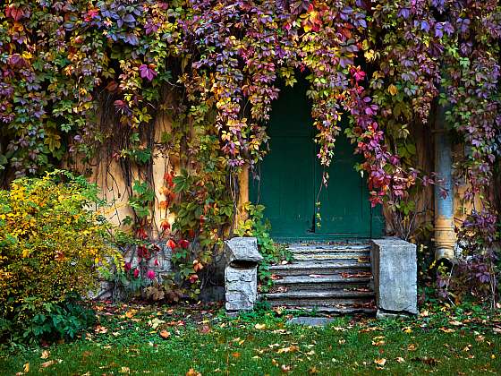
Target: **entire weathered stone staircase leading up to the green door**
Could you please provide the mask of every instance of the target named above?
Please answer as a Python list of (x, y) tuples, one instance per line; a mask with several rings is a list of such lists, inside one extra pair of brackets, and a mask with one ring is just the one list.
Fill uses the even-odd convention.
[(291, 244), (293, 261), (270, 267), (271, 306), (327, 314), (375, 313), (369, 244)]

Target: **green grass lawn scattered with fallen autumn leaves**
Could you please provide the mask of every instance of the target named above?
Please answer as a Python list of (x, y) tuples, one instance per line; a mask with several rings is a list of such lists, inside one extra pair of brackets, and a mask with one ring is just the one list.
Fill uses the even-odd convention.
[[(415, 320), (288, 325), (276, 312), (228, 319), (217, 307), (99, 305), (86, 338), (0, 353), (0, 374), (501, 373), (501, 317), (456, 308)], [(28, 367), (28, 366), (26, 366)], [(188, 372), (188, 373), (187, 373)]]

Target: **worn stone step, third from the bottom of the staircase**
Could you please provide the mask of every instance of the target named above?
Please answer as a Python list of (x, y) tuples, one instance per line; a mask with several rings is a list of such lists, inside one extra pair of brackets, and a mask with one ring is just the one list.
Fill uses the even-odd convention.
[(310, 274), (285, 276), (274, 280), (270, 292), (297, 292), (301, 290), (342, 290), (344, 288), (369, 288), (370, 273), (361, 277)]

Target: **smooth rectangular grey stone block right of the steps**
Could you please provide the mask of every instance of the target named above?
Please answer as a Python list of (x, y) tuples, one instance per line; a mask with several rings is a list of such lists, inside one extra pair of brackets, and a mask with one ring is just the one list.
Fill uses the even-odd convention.
[(378, 319), (418, 313), (416, 245), (387, 237), (371, 241)]

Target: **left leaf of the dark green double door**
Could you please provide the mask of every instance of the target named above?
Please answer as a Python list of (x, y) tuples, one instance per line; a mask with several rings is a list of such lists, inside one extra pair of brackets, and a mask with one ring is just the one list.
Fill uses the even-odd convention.
[(259, 166), (260, 182), (250, 179), (250, 197), (265, 205), (276, 237), (308, 235), (312, 227), (315, 148), (310, 122), (306, 86), (282, 89), (268, 125), (270, 150)]

